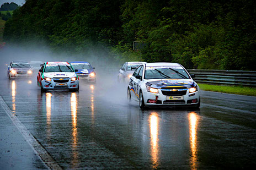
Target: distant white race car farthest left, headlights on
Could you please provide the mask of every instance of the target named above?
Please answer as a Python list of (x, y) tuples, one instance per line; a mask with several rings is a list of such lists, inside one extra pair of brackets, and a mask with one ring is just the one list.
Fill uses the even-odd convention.
[(27, 78), (33, 74), (28, 62), (11, 62), (8, 65), (7, 76), (11, 78)]

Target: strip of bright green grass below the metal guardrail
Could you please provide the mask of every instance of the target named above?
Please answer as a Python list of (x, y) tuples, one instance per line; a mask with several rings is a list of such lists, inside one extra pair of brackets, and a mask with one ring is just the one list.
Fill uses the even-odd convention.
[(225, 92), (227, 94), (256, 96), (256, 87), (244, 87), (244, 86), (220, 86), (199, 84), (201, 90)]

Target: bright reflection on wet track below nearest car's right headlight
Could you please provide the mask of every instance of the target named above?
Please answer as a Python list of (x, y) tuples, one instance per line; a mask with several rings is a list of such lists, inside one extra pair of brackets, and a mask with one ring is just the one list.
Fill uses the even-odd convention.
[(191, 169), (197, 168), (197, 139), (196, 129), (198, 128), (198, 115), (195, 112), (189, 113), (189, 140), (191, 148), (190, 164)]

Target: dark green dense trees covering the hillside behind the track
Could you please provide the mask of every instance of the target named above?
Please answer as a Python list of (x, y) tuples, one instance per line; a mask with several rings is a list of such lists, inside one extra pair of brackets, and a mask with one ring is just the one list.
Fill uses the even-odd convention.
[[(27, 0), (6, 23), (7, 42), (104, 51), (120, 61), (256, 70), (254, 0)], [(132, 50), (132, 42), (145, 47)]]

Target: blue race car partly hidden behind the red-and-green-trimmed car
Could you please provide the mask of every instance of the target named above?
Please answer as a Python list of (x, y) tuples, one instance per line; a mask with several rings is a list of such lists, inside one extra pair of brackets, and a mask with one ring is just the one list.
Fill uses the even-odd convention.
[(73, 69), (77, 69), (78, 72), (76, 74), (78, 75), (80, 80), (85, 80), (90, 83), (96, 82), (96, 73), (94, 72), (94, 67), (90, 65), (88, 62), (70, 62)]

